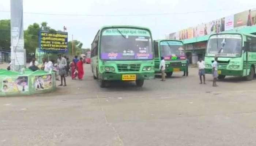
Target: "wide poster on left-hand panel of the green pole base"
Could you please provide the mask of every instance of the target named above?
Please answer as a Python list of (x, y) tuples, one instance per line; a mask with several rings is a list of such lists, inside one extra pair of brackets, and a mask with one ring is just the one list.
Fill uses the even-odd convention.
[(26, 92), (29, 91), (28, 77), (5, 77), (2, 81), (2, 92)]

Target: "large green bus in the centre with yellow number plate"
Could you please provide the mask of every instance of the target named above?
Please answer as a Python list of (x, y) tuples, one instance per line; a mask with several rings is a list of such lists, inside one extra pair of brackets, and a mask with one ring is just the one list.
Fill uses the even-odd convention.
[(104, 26), (91, 44), (91, 70), (100, 87), (109, 81), (135, 81), (142, 87), (154, 78), (151, 31), (137, 26)]

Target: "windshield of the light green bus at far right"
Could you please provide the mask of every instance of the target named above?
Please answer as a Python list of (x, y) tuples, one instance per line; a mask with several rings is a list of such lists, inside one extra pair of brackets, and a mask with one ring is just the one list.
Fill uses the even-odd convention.
[(207, 45), (206, 56), (239, 57), (242, 50), (242, 37), (238, 34), (212, 35)]

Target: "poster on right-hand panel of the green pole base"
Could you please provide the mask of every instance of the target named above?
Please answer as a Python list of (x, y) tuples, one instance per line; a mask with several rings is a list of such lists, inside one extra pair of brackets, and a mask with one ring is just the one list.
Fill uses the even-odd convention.
[(49, 88), (52, 88), (51, 74), (35, 76), (35, 90), (45, 90)]

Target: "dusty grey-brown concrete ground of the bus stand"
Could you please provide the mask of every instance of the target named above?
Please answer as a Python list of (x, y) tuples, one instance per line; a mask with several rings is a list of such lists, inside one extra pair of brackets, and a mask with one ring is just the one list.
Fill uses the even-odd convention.
[(0, 97), (1, 146), (255, 146), (256, 80), (200, 85), (196, 68), (100, 88), (85, 65), (54, 93)]

